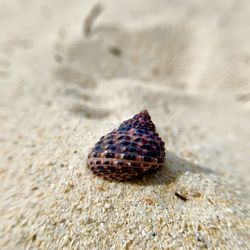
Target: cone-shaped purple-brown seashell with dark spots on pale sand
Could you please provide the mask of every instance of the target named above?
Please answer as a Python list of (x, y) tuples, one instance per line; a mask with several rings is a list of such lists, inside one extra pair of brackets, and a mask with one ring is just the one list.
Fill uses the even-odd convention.
[(87, 164), (97, 176), (124, 181), (151, 173), (165, 159), (164, 142), (147, 110), (124, 121), (95, 144)]

